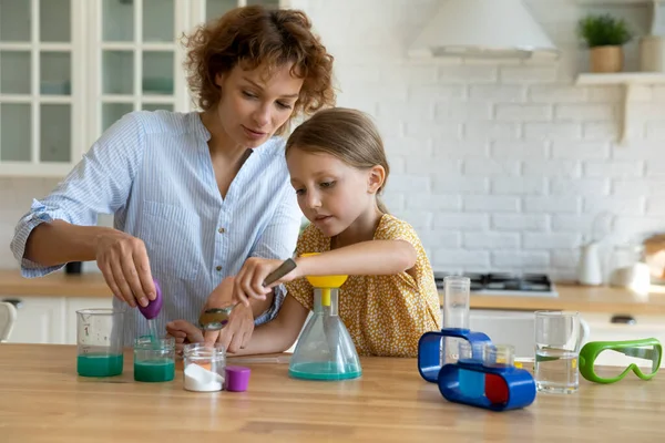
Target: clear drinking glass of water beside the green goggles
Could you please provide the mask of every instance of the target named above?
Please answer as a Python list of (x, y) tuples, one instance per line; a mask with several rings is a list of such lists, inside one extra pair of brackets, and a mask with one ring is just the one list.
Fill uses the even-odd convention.
[(580, 312), (535, 311), (535, 387), (572, 394), (580, 388)]

